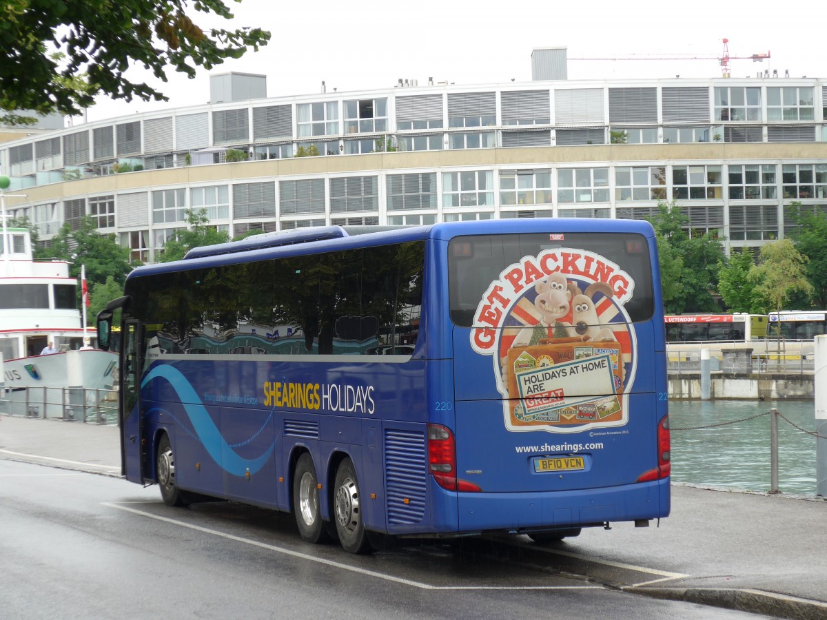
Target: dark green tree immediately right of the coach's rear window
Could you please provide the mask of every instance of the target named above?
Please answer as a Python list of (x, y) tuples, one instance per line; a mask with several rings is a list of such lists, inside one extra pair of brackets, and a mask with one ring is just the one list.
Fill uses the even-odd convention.
[(674, 201), (658, 202), (657, 210), (652, 223), (660, 255), (664, 310), (681, 314), (719, 309), (713, 293), (718, 284), (718, 262), (724, 258), (720, 241), (709, 233), (689, 236), (684, 230), (689, 218)]

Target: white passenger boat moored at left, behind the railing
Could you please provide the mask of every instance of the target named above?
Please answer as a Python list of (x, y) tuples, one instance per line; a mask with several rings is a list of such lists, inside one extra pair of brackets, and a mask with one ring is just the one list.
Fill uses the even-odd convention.
[[(33, 260), (25, 228), (4, 227), (0, 246), (2, 387), (112, 389), (117, 355), (84, 330), (69, 263)], [(41, 355), (50, 344), (57, 352)]]

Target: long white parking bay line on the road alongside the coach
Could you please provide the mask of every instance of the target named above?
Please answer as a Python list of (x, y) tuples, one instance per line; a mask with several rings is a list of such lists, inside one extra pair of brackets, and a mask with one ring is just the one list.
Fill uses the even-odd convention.
[(179, 527), (188, 527), (191, 530), (195, 530), (197, 532), (203, 532), (205, 534), (211, 534), (213, 536), (218, 536), (222, 538), (226, 538), (229, 541), (241, 542), (244, 545), (251, 545), (257, 546), (261, 549), (266, 549), (268, 551), (275, 551), (276, 553), (281, 553), (284, 556), (291, 556), (295, 558), (299, 558), (300, 560), (308, 560), (310, 562), (316, 562), (317, 564), (323, 564), (327, 566), (332, 566), (333, 568), (341, 569), (341, 570), (348, 570), (351, 573), (357, 573), (359, 575), (367, 575), (369, 577), (375, 577), (376, 579), (385, 579), (385, 581), (392, 581), (397, 584), (404, 584), (409, 585), (414, 588), (423, 589), (423, 590), (577, 590), (577, 589), (601, 589), (599, 585), (573, 585), (573, 586), (564, 586), (564, 585), (514, 585), (514, 586), (486, 586), (486, 585), (469, 585), (469, 586), (452, 586), (452, 585), (431, 585), (431, 584), (423, 584), (420, 581), (414, 581), (412, 579), (403, 579), (402, 577), (394, 577), (393, 575), (387, 575), (385, 573), (378, 573), (375, 570), (366, 570), (361, 569), (356, 566), (350, 566), (347, 564), (343, 564), (342, 562), (337, 562), (335, 560), (325, 560), (324, 558), (318, 558), (314, 556), (310, 556), (306, 553), (301, 553), (300, 551), (292, 551), (290, 549), (285, 549), (281, 546), (275, 545), (268, 545), (265, 542), (253, 541), (249, 538), (242, 538), (238, 536), (234, 536), (233, 534), (227, 534), (224, 532), (218, 532), (218, 530), (213, 530), (208, 527), (201, 527), (198, 525), (193, 525), (192, 523), (187, 523), (183, 521), (178, 521), (176, 519), (170, 519), (169, 517), (161, 517), (160, 515), (146, 513), (142, 510), (136, 510), (136, 508), (129, 508), (127, 506), (121, 506), (117, 503), (109, 503), (103, 502), (103, 506), (108, 506), (109, 508), (116, 508), (117, 510), (123, 510), (127, 513), (133, 513), (140, 515), (141, 517), (149, 517), (151, 519), (155, 519), (156, 521), (161, 521), (165, 523), (170, 523), (172, 525), (177, 525)]

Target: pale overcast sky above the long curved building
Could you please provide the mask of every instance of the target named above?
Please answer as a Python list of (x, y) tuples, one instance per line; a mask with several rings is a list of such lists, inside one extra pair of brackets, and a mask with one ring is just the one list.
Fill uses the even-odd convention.
[[(777, 69), (791, 77), (827, 77), (820, 21), (823, 0), (721, 2), (717, 0), (242, 0), (227, 2), (232, 28), (261, 26), (270, 44), (248, 51), (195, 79), (168, 74), (160, 83), (142, 69), (132, 81), (146, 81), (169, 102), (101, 99), (88, 120), (208, 103), (209, 75), (229, 71), (265, 74), (267, 96), (385, 88), (399, 78), (429, 77), (457, 84), (506, 83), (531, 79), (531, 52), (566, 47), (568, 79), (719, 77), (717, 59), (729, 39), (732, 76)], [(201, 26), (217, 26), (192, 12)], [(762, 63), (736, 56), (766, 54)], [(707, 60), (654, 60), (696, 57)], [(635, 60), (576, 60), (576, 59)]]

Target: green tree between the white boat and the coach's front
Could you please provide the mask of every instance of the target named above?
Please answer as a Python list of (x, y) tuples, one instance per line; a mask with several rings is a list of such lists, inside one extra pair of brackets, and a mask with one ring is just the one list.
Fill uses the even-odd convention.
[(73, 278), (80, 277), (80, 266), (85, 265), (90, 288), (93, 284), (105, 284), (110, 276), (123, 286), (132, 269), (129, 249), (119, 246), (114, 235), (98, 232), (90, 216), (82, 218), (75, 230), (64, 224), (45, 252), (50, 258), (71, 263), (69, 275)]

